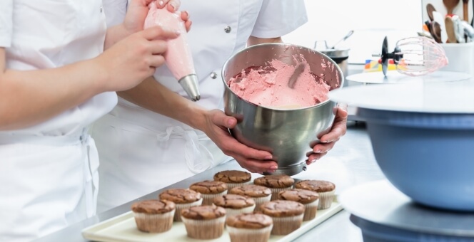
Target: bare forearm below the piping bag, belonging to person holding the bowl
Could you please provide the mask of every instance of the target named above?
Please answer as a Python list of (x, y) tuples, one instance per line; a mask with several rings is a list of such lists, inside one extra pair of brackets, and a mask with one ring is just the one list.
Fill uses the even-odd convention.
[(174, 93), (153, 77), (146, 78), (135, 88), (117, 94), (138, 106), (171, 117), (198, 130), (205, 122), (206, 110), (203, 107)]

